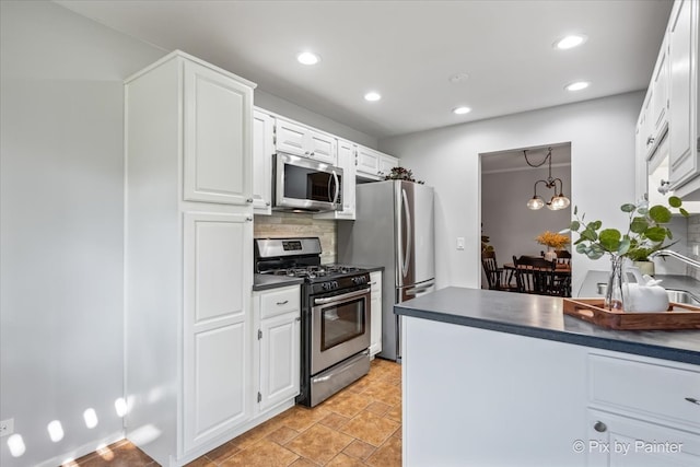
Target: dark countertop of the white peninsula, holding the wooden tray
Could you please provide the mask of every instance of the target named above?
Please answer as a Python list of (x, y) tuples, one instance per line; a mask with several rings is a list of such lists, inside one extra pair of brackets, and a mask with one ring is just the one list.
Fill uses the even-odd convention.
[(560, 297), (451, 287), (394, 313), (700, 365), (700, 330), (611, 330), (564, 315)]

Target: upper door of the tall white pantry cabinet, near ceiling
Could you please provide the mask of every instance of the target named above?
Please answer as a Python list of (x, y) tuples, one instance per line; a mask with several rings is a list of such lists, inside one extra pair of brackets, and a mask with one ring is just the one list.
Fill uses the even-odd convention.
[(253, 90), (185, 61), (184, 199), (253, 202)]

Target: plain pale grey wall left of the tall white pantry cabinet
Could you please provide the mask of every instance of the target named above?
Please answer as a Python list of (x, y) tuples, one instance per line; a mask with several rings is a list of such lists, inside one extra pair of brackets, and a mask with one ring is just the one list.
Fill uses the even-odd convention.
[(50, 2), (0, 9), (0, 419), (26, 446), (2, 437), (0, 464), (58, 465), (121, 437), (122, 80), (164, 52)]

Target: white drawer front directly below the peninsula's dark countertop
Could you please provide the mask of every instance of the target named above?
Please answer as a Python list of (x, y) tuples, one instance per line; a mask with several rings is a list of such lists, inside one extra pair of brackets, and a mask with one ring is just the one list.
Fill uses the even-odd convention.
[(606, 355), (588, 355), (588, 399), (638, 413), (700, 427), (700, 372)]

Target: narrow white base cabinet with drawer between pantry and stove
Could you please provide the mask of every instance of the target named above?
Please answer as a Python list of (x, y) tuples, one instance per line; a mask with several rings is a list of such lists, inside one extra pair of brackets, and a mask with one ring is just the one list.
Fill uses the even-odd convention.
[(257, 413), (299, 395), (301, 301), (299, 285), (254, 292), (258, 340)]

